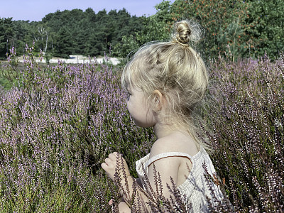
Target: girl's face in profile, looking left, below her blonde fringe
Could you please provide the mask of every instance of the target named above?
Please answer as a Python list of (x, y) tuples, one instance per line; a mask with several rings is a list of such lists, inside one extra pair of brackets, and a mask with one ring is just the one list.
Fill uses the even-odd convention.
[(137, 87), (129, 87), (128, 90), (126, 104), (134, 124), (141, 127), (154, 126), (157, 121), (153, 110), (146, 104), (145, 92)]

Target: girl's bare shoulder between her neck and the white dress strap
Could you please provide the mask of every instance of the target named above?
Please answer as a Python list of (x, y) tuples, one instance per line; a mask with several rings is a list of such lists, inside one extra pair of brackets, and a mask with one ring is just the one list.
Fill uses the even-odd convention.
[(168, 152), (187, 153), (193, 156), (198, 152), (198, 148), (190, 136), (177, 132), (155, 141), (151, 148), (150, 158)]

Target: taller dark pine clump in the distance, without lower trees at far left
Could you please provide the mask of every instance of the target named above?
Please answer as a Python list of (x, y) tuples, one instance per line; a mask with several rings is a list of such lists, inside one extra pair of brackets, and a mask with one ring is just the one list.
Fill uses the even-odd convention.
[[(125, 10), (106, 10), (94, 13), (92, 9), (57, 11), (43, 18), (43, 24), (55, 32), (49, 40), (48, 50), (58, 56), (71, 53), (98, 56), (109, 52), (109, 48), (121, 43), (124, 35), (141, 29), (140, 18), (130, 16)], [(64, 26), (64, 30), (62, 27)], [(62, 40), (65, 40), (63, 42)], [(53, 47), (52, 49), (51, 46)]]

